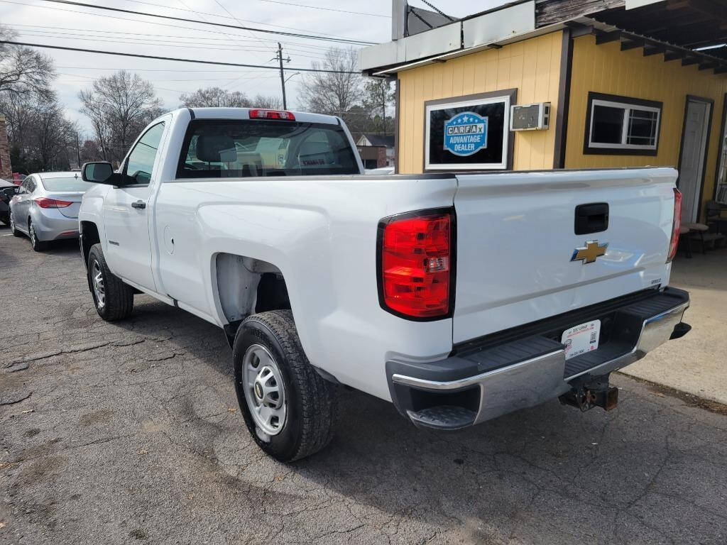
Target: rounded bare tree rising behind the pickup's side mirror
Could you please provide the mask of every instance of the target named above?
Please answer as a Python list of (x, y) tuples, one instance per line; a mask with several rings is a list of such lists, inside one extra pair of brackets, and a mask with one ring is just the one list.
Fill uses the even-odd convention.
[(121, 161), (144, 126), (162, 112), (154, 86), (126, 70), (97, 79), (79, 99), (107, 161)]

